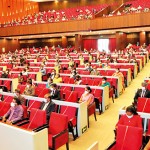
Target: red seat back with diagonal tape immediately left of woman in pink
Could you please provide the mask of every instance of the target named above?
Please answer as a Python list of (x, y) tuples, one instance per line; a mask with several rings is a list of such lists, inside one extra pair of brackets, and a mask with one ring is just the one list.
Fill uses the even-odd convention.
[(77, 102), (78, 101), (78, 93), (76, 91), (66, 91), (65, 92), (65, 101)]

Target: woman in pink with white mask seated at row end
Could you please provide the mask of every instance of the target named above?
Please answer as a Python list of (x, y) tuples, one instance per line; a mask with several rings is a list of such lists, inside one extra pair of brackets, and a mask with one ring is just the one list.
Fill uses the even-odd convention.
[(87, 86), (85, 88), (85, 92), (82, 94), (79, 103), (81, 102), (86, 102), (87, 106), (89, 106), (90, 104), (92, 104), (94, 102), (94, 96), (93, 94), (91, 94), (92, 90), (89, 86)]

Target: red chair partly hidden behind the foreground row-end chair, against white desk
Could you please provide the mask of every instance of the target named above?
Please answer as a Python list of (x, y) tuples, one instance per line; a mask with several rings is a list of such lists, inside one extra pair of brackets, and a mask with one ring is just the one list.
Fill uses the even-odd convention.
[[(61, 106), (60, 114), (68, 116), (68, 128), (75, 140), (78, 137), (77, 129), (77, 108), (71, 106)], [(76, 135), (74, 134), (74, 128), (76, 129)]]

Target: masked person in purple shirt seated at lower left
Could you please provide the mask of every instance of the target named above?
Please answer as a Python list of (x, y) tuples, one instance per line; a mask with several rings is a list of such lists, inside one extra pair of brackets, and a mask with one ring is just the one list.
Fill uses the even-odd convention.
[(11, 107), (8, 112), (3, 116), (2, 121), (8, 124), (15, 123), (18, 120), (21, 120), (23, 117), (23, 108), (21, 102), (17, 97), (14, 97), (11, 102)]

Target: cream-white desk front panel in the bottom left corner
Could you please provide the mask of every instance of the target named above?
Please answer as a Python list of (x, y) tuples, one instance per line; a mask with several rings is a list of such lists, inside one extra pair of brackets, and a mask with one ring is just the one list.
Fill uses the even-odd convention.
[(0, 122), (1, 150), (48, 150), (48, 130), (33, 132)]

